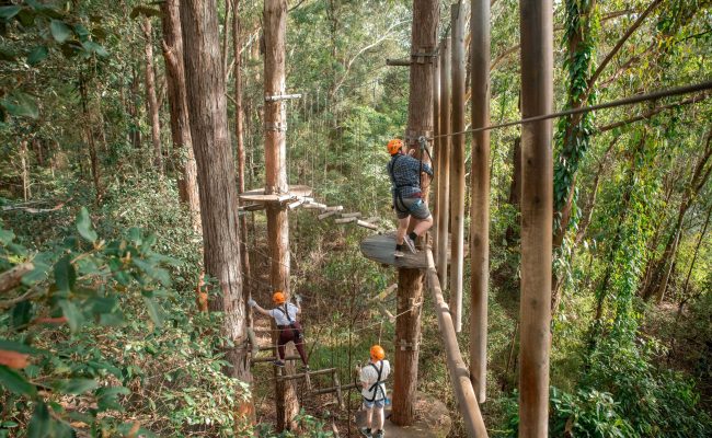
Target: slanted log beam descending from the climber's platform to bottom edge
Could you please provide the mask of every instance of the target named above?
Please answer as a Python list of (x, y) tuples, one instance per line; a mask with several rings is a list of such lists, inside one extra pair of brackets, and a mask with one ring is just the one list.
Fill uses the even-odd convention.
[(440, 336), (443, 338), (443, 346), (445, 356), (447, 358), (447, 367), (450, 373), (450, 382), (452, 382), (452, 391), (458, 401), (458, 410), (462, 415), (464, 428), (468, 431), (468, 437), (486, 437), (487, 429), (484, 427), (480, 405), (474, 395), (474, 389), (470, 381), (470, 371), (468, 370), (460, 347), (458, 346), (458, 338), (455, 334), (455, 325), (452, 324), (452, 316), (450, 309), (445, 303), (443, 298), (443, 289), (440, 281), (437, 278), (435, 264), (433, 262), (433, 253), (427, 250), (427, 285), (433, 292), (433, 301), (435, 302), (435, 312), (437, 313), (437, 323), (440, 328)]

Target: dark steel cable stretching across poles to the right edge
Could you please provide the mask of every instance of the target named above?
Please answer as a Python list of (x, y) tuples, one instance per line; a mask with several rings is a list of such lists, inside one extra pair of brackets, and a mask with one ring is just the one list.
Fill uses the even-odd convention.
[(473, 134), (473, 132), (481, 132), (485, 130), (492, 130), (492, 129), (499, 129), (499, 128), (506, 128), (509, 126), (516, 126), (516, 125), (524, 125), (532, 122), (541, 122), (541, 120), (548, 120), (550, 118), (559, 118), (559, 117), (564, 117), (564, 116), (571, 116), (574, 114), (582, 114), (582, 113), (588, 113), (592, 111), (598, 111), (598, 110), (606, 110), (606, 108), (615, 108), (618, 106), (624, 106), (624, 105), (632, 105), (635, 103), (641, 103), (645, 101), (654, 101), (661, 97), (669, 97), (669, 96), (675, 96), (675, 95), (681, 95), (681, 94), (689, 94), (689, 93), (694, 93), (698, 91), (704, 91), (704, 90), (710, 90), (712, 89), (712, 80), (708, 80), (704, 82), (700, 83), (694, 83), (690, 85), (684, 85), (684, 87), (677, 87), (673, 89), (666, 89), (666, 90), (658, 90), (652, 93), (643, 93), (643, 94), (636, 94), (630, 97), (625, 99), (619, 99), (617, 101), (611, 101), (611, 102), (606, 102), (601, 103), (598, 105), (590, 105), (590, 106), (582, 106), (579, 108), (571, 108), (571, 110), (564, 110), (560, 111), (558, 113), (551, 113), (551, 114), (542, 114), (533, 117), (527, 117), (522, 118), (519, 120), (513, 120), (513, 122), (505, 122), (502, 124), (497, 125), (490, 125), (490, 126), (483, 126), (480, 128), (472, 128), (472, 129), (466, 129), (461, 130), (458, 132), (451, 132), (451, 134), (443, 134), (439, 136), (434, 136), (429, 137), (428, 140), (433, 140), (436, 138), (444, 138), (444, 137), (452, 137), (452, 136), (460, 136), (462, 134)]

